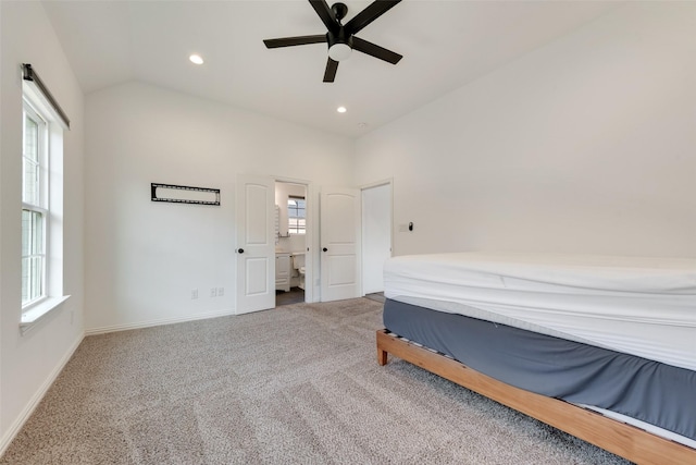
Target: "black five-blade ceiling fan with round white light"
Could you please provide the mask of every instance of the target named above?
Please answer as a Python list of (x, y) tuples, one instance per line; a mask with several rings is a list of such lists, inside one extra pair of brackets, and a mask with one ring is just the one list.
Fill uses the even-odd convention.
[(346, 17), (346, 13), (348, 13), (348, 7), (346, 7), (345, 3), (334, 3), (330, 8), (326, 0), (309, 0), (326, 26), (326, 34), (265, 39), (263, 44), (265, 44), (266, 48), (278, 48), (327, 42), (328, 61), (326, 62), (326, 71), (324, 72), (325, 83), (334, 82), (336, 70), (338, 70), (338, 62), (350, 57), (352, 50), (358, 50), (378, 58), (380, 60), (396, 64), (402, 58), (399, 53), (363, 40), (355, 35), (400, 1), (401, 0), (376, 0), (370, 3), (348, 23), (341, 24), (340, 20)]

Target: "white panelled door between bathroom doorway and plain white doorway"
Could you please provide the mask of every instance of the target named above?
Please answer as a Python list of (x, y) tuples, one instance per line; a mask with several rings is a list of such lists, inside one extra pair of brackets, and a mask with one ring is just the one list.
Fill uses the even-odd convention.
[(360, 192), (323, 188), (320, 227), (321, 301), (360, 297)]

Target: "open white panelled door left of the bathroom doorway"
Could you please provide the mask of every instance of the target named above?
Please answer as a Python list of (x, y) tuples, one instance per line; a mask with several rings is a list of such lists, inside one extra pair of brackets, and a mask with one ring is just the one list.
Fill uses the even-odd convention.
[(275, 181), (237, 175), (237, 314), (275, 307)]

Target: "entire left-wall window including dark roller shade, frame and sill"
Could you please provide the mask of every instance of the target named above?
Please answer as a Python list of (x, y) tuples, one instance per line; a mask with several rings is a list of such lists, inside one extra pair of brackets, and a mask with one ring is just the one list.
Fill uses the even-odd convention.
[(24, 333), (70, 297), (63, 295), (63, 131), (70, 120), (29, 64), (23, 64), (22, 93)]

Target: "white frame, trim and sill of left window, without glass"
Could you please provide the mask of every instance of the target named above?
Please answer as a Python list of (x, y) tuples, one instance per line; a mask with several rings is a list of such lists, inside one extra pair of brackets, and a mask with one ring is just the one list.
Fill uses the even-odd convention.
[[(22, 333), (25, 333), (44, 316), (58, 308), (70, 295), (63, 295), (63, 230), (60, 224), (63, 211), (63, 130), (65, 126), (60, 123), (58, 114), (44, 96), (26, 82), (23, 84), (22, 210), (40, 212), (44, 229), (41, 293), (36, 298), (22, 302), (20, 328)], [(38, 147), (40, 167), (38, 205), (27, 203), (24, 198), (26, 114), (35, 121), (41, 121)], [(24, 254), (22, 255), (24, 257)], [(21, 268), (24, 273), (24, 265)]]

